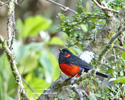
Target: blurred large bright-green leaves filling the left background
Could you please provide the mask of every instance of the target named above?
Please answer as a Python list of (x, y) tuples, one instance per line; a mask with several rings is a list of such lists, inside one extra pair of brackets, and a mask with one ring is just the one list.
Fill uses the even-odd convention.
[[(30, 87), (40, 95), (59, 75), (58, 59), (51, 49), (53, 46), (64, 46), (64, 42), (57, 36), (51, 38), (46, 32), (52, 21), (40, 15), (29, 17), (24, 20), (17, 19), (18, 39), (14, 41), (13, 50), (18, 70)], [(24, 40), (40, 36), (41, 42), (25, 43)], [(0, 56), (0, 100), (14, 100), (16, 84), (11, 73), (6, 55)], [(1, 83), (2, 82), (2, 83)], [(11, 85), (10, 85), (11, 84)], [(23, 83), (28, 98), (37, 98), (35, 93)]]

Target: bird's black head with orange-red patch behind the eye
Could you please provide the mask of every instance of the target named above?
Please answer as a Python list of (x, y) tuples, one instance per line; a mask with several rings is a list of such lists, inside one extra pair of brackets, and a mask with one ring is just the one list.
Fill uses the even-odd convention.
[(67, 58), (71, 57), (73, 55), (72, 52), (70, 52), (67, 48), (59, 49), (59, 63), (64, 62)]

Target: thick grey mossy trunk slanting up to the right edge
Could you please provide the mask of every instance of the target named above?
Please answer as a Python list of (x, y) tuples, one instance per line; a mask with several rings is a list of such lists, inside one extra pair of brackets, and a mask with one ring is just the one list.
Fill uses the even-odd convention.
[[(107, 17), (106, 24), (96, 34), (95, 38), (87, 45), (84, 50), (98, 53), (102, 47), (110, 40), (110, 38), (118, 32), (120, 27), (125, 23), (125, 8), (123, 8), (116, 16)], [(123, 25), (124, 26), (124, 25)]]

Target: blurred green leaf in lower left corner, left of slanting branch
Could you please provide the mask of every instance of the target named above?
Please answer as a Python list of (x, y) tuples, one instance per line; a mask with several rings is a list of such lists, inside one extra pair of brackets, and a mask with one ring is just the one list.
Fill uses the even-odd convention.
[[(10, 85), (11, 84), (11, 85)], [(11, 92), (10, 92), (11, 91)], [(0, 100), (9, 100), (16, 93), (15, 78), (5, 53), (0, 55)]]

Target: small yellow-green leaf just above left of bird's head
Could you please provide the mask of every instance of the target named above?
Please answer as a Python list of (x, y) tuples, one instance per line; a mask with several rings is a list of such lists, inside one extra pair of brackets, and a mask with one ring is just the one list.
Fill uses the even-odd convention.
[(59, 45), (59, 46), (64, 46), (64, 42), (58, 38), (58, 37), (53, 37), (50, 42), (48, 42), (49, 45)]

